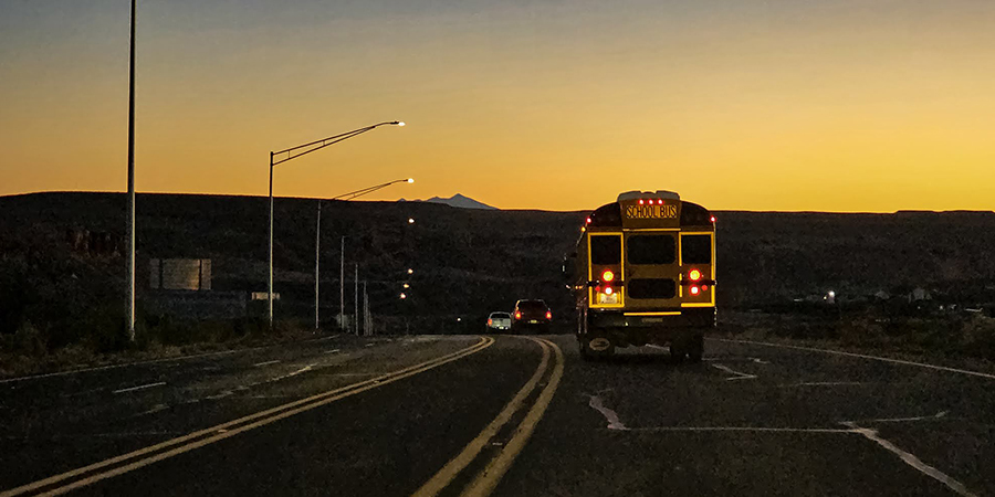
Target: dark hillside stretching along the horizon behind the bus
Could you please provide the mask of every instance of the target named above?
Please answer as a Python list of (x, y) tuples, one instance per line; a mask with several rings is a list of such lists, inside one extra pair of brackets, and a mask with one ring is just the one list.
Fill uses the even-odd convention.
[[(138, 195), (139, 296), (148, 258), (212, 261), (213, 289), (264, 292), (268, 200)], [(596, 205), (593, 205), (596, 207)], [(313, 313), (316, 201), (276, 199), (280, 317)], [(25, 320), (50, 330), (82, 326), (94, 308), (121, 307), (125, 197), (35, 193), (0, 198), (0, 331)], [(428, 202), (328, 202), (323, 209), (322, 307), (338, 309), (339, 237), (346, 303), (354, 264), (378, 316), (480, 316), (517, 298), (545, 298), (569, 314), (559, 278), (585, 212), (489, 211)], [(821, 295), (863, 296), (921, 286), (944, 295), (995, 285), (995, 214), (716, 212), (720, 299), (750, 307)], [(413, 218), (413, 224), (408, 219)], [(71, 233), (94, 242), (74, 248)], [(100, 243), (97, 243), (100, 242)], [(415, 269), (408, 278), (408, 267)], [(410, 298), (400, 300), (410, 281)], [(974, 297), (971, 297), (974, 298)], [(982, 297), (977, 297), (982, 298)], [(86, 319), (82, 319), (86, 321)]]

